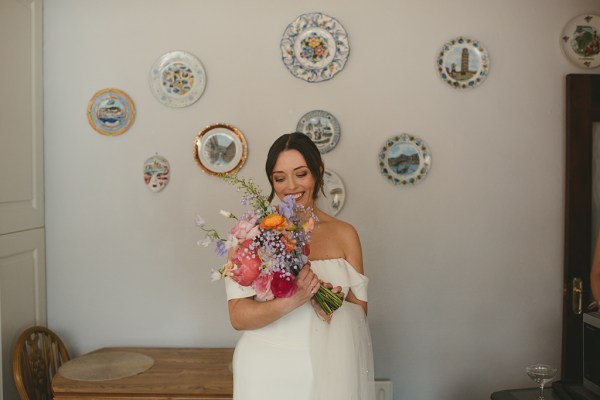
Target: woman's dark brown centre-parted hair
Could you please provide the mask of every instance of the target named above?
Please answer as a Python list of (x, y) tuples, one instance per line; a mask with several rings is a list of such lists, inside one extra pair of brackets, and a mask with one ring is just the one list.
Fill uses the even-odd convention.
[[(310, 170), (313, 178), (315, 179), (315, 190), (313, 192), (313, 199), (316, 199), (319, 195), (319, 191), (323, 191), (323, 160), (321, 159), (321, 153), (317, 145), (304, 133), (293, 132), (281, 135), (269, 149), (267, 154), (267, 162), (265, 163), (265, 172), (267, 178), (271, 184), (271, 194), (269, 194), (269, 201), (273, 200), (275, 196), (275, 188), (273, 187), (273, 169), (275, 163), (281, 154), (285, 150), (297, 150), (304, 160), (306, 166)], [(325, 194), (325, 193), (323, 193)]]

